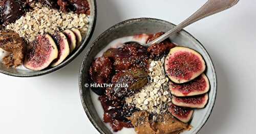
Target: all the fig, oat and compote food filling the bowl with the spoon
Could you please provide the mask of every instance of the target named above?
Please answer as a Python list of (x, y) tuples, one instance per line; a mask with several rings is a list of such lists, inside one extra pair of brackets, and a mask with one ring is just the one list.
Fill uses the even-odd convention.
[[(139, 134), (180, 133), (190, 129), (193, 108), (202, 109), (207, 104), (209, 82), (198, 52), (176, 46), (169, 39), (148, 48), (138, 43), (122, 44), (127, 39), (145, 44), (163, 34), (116, 39), (92, 62), (91, 84), (101, 86), (91, 89), (99, 95), (103, 122), (110, 123), (113, 131), (134, 127)], [(179, 59), (173, 55), (176, 52), (190, 52), (192, 56)], [(178, 80), (173, 81), (175, 78)]]

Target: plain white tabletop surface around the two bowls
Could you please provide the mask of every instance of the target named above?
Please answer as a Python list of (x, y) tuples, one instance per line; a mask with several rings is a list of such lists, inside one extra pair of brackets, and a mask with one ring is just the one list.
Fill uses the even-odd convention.
[[(93, 41), (113, 24), (154, 17), (178, 24), (206, 0), (98, 0)], [(199, 133), (254, 133), (256, 124), (256, 1), (241, 0), (228, 11), (185, 30), (214, 61), (218, 77), (215, 108)], [(0, 74), (0, 133), (98, 133), (83, 111), (78, 58), (57, 72), (32, 78)]]

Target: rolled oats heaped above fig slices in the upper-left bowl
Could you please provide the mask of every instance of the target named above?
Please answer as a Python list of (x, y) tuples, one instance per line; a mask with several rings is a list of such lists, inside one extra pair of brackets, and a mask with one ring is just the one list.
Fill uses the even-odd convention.
[(79, 29), (84, 35), (88, 30), (88, 25), (89, 16), (86, 14), (63, 13), (36, 4), (33, 11), (27, 12), (25, 16), (8, 24), (6, 28), (15, 31), (27, 41), (32, 41), (38, 34), (54, 34), (55, 31), (71, 28)]

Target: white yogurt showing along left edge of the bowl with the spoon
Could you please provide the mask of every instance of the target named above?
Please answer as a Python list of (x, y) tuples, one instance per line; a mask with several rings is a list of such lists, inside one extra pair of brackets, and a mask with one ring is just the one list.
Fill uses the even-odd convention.
[[(98, 57), (101, 57), (103, 55), (103, 53), (110, 49), (110, 48), (120, 48), (123, 43), (125, 42), (128, 42), (128, 41), (137, 41), (137, 42), (140, 42), (140, 43), (143, 43), (145, 44), (146, 41), (148, 40), (148, 35), (147, 34), (141, 34), (141, 35), (135, 35), (135, 36), (126, 36), (126, 37), (122, 37), (122, 38), (119, 38), (119, 39), (115, 39), (113, 40), (112, 42), (110, 42), (106, 47), (104, 47), (97, 55), (95, 58), (98, 58)], [(104, 111), (103, 111), (103, 108), (102, 108), (102, 105), (100, 103), (100, 101), (98, 100), (98, 95), (95, 94), (92, 90), (90, 91), (91, 92), (91, 97), (92, 97), (92, 102), (94, 104), (94, 107), (95, 107), (95, 110), (97, 112), (97, 114), (99, 115), (100, 119), (102, 120), (103, 122), (103, 114), (104, 114)], [(110, 123), (104, 123), (106, 127), (108, 127), (113, 133), (120, 133), (120, 134), (126, 134), (126, 133), (129, 133), (129, 134), (136, 134), (134, 128), (126, 128), (126, 127), (123, 127), (122, 130), (120, 131), (117, 131), (117, 132), (114, 132), (110, 126)]]

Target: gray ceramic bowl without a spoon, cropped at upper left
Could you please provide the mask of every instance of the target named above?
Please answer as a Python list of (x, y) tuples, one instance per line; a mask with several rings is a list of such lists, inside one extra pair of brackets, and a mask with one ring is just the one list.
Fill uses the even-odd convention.
[(44, 75), (44, 74), (56, 71), (56, 70), (62, 68), (63, 66), (66, 66), (71, 61), (73, 61), (79, 55), (79, 53), (86, 47), (86, 45), (89, 43), (89, 41), (92, 37), (94, 28), (95, 28), (96, 19), (97, 19), (96, 0), (88, 0), (88, 2), (90, 4), (91, 14), (90, 14), (90, 17), (89, 17), (89, 23), (90, 24), (89, 24), (87, 35), (83, 37), (82, 44), (79, 46), (79, 48), (76, 49), (76, 51), (73, 52), (72, 55), (70, 55), (65, 61), (63, 61), (61, 64), (59, 64), (56, 67), (46, 68), (45, 70), (41, 70), (41, 71), (22, 70), (22, 69), (16, 69), (16, 68), (6, 68), (2, 63), (0, 63), (0, 72), (4, 73), (4, 74), (7, 74), (7, 75), (18, 76), (18, 77), (39, 76), (39, 75)]

